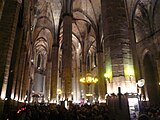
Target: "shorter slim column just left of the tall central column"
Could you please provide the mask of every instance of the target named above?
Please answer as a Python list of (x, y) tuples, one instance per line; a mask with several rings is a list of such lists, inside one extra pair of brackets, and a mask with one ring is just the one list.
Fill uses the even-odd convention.
[(50, 100), (56, 100), (57, 80), (58, 80), (58, 45), (52, 47), (52, 72), (51, 72), (51, 97)]

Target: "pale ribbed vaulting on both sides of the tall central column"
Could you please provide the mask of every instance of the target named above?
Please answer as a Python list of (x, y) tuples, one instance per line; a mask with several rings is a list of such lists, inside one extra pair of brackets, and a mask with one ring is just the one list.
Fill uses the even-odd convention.
[[(35, 48), (46, 54), (45, 47), (61, 44), (63, 39), (63, 1), (35, 0), (33, 29)], [(101, 19), (100, 0), (73, 0), (72, 43), (74, 48), (96, 48), (96, 33)], [(51, 46), (50, 46), (51, 47)], [(46, 51), (46, 52), (44, 52)]]

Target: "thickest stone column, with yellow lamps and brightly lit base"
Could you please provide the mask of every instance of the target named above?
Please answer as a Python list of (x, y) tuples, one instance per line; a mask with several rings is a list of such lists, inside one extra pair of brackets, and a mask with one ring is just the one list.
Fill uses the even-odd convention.
[[(114, 8), (114, 9), (112, 9)], [(104, 30), (104, 48), (109, 43), (113, 79), (107, 85), (110, 93), (117, 93), (121, 87), (122, 93), (136, 92), (135, 79), (129, 80), (127, 71), (133, 70), (131, 40), (129, 37), (128, 21), (124, 0), (102, 0), (102, 19)], [(134, 73), (132, 76), (134, 78)], [(130, 88), (133, 89), (130, 89)]]

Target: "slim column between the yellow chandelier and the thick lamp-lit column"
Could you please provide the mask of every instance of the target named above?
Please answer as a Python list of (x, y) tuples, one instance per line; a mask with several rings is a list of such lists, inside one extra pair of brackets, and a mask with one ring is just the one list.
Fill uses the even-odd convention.
[(105, 102), (105, 82), (104, 81), (104, 65), (103, 65), (103, 52), (98, 51), (98, 86), (99, 86), (99, 101)]

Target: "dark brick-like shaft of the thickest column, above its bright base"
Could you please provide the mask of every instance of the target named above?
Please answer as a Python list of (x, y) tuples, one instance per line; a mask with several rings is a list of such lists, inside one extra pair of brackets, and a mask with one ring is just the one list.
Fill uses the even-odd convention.
[[(104, 45), (107, 46), (107, 44), (109, 43), (113, 76), (124, 76), (123, 59), (125, 57), (125, 51), (123, 49), (125, 49), (125, 46), (123, 46), (123, 43), (126, 42), (126, 46), (129, 44), (129, 41), (127, 39), (128, 24), (125, 16), (125, 7), (123, 4), (124, 2), (122, 0), (120, 0), (119, 2), (112, 0), (103, 0), (102, 3), (102, 11), (105, 11), (102, 12), (103, 21), (105, 21), (103, 30), (104, 36), (105, 38), (107, 38), (104, 41)], [(111, 9), (113, 7), (115, 9)], [(124, 17), (118, 15), (118, 11), (121, 12), (121, 14), (124, 14)], [(125, 28), (123, 28), (124, 26)], [(107, 52), (106, 47), (104, 48), (105, 52)], [(129, 48), (128, 51), (126, 51), (126, 53), (127, 52), (129, 52)]]

